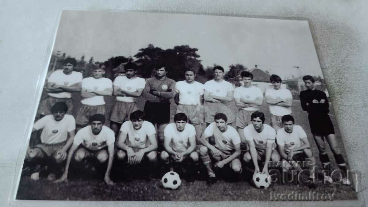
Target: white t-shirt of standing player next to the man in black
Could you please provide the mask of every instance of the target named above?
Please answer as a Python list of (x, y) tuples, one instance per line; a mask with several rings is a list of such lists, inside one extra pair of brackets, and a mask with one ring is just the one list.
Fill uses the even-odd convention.
[[(268, 88), (266, 90), (265, 97), (266, 96), (270, 96), (271, 98), (293, 99), (293, 95), (291, 95), (291, 92), (286, 88), (280, 88), (279, 90)], [(291, 107), (270, 105), (270, 112), (275, 116), (284, 116), (291, 113)]]

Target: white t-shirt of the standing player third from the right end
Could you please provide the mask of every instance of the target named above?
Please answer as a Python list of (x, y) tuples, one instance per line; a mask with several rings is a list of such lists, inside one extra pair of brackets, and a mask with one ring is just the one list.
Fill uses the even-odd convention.
[[(252, 86), (252, 85), (248, 88), (237, 87), (234, 90), (234, 98), (245, 98), (247, 100), (254, 101), (258, 97), (263, 98), (263, 93), (261, 89), (255, 86)], [(251, 107), (244, 107), (242, 109), (248, 110), (248, 111), (256, 111), (256, 110), (259, 110), (259, 107), (251, 106)]]

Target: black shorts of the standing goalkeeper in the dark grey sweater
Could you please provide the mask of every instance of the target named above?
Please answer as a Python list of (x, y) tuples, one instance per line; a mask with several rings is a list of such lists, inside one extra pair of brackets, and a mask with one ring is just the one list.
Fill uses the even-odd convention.
[(149, 102), (144, 105), (145, 120), (152, 124), (170, 122), (170, 103)]

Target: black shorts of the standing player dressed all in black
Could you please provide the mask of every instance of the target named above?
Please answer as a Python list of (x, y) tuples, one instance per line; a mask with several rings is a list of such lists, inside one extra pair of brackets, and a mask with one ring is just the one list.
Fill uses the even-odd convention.
[(319, 136), (327, 136), (335, 134), (333, 124), (328, 114), (308, 114), (309, 126), (311, 126), (312, 134)]

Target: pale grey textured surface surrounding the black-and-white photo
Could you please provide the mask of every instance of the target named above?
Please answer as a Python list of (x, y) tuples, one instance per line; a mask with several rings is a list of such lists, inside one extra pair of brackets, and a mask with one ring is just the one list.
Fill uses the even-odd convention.
[[(18, 156), (33, 119), (37, 80), (44, 71), (60, 9), (146, 10), (168, 13), (307, 18), (348, 154), (350, 168), (368, 186), (368, 1), (1, 1), (0, 0), (0, 206), (121, 206), (137, 202), (12, 202)], [(47, 50), (48, 48), (48, 50)], [(23, 144), (23, 146), (22, 146)], [(21, 154), (19, 154), (21, 153)], [(31, 190), (31, 189), (30, 189)], [(364, 190), (367, 198), (368, 189)], [(362, 194), (360, 193), (360, 194)], [(50, 203), (51, 202), (51, 203)], [(142, 204), (142, 203), (141, 203)], [(144, 206), (152, 203), (144, 202)], [(179, 206), (357, 206), (358, 202), (176, 203)], [(156, 202), (155, 205), (172, 206)]]

